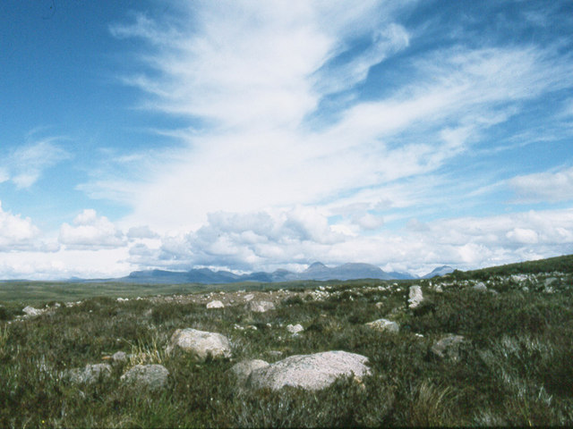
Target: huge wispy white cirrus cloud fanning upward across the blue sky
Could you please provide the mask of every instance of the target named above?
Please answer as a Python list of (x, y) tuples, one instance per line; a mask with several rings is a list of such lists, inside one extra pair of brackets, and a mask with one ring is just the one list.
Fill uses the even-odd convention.
[[(123, 224), (149, 224), (170, 237), (163, 250), (138, 243), (133, 257), (140, 262), (156, 257), (165, 264), (227, 261), (244, 267), (307, 260), (318, 249), (342, 261), (345, 255), (366, 257), (362, 248), (380, 261), (391, 257), (375, 246), (423, 258), (428, 248), (385, 228), (426, 214), (455, 222), (463, 208), (489, 205), (494, 191), (526, 195), (523, 179), (505, 180), (498, 154), (542, 141), (543, 130), (524, 119), (532, 112), (543, 112), (548, 123), (560, 121), (559, 112), (538, 104), (571, 88), (573, 59), (556, 43), (492, 37), (476, 46), (469, 43), (475, 32), (465, 34), (463, 26), (416, 51), (435, 29), (427, 25), (432, 17), (407, 24), (405, 8), (413, 7), (415, 2), (194, 2), (177, 3), (165, 19), (136, 14), (131, 23), (115, 24), (115, 37), (144, 43), (137, 56), (141, 71), (122, 75), (123, 82), (141, 89), (141, 106), (186, 118), (190, 127), (165, 131), (184, 145), (176, 157), (151, 162), (143, 180), (104, 175), (78, 189), (92, 197), (115, 192), (114, 198), (127, 198), (133, 213)], [(543, 11), (534, 12), (539, 24)], [(384, 74), (391, 62), (397, 71)], [(488, 162), (495, 172), (483, 175), (479, 166)], [(269, 231), (242, 238), (214, 215), (272, 213), (272, 228), (290, 237), (278, 219), (288, 218), (294, 206), (318, 210), (327, 227), (307, 240), (278, 242)], [(440, 248), (452, 260), (481, 264), (482, 250), (493, 261), (496, 252), (516, 249), (507, 244), (486, 251), (495, 242), (543, 242), (526, 224), (515, 231), (495, 224), (483, 223), (492, 237), (485, 244), (460, 232), (465, 245)], [(207, 233), (219, 230), (225, 231)], [(445, 229), (432, 231), (449, 236)], [(344, 240), (323, 248), (337, 233)], [(432, 242), (440, 241), (436, 237)]]

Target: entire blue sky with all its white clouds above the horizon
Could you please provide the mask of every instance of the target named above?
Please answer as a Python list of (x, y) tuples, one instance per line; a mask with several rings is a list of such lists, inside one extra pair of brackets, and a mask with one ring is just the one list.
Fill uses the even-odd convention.
[(0, 3), (0, 279), (571, 253), (569, 0)]

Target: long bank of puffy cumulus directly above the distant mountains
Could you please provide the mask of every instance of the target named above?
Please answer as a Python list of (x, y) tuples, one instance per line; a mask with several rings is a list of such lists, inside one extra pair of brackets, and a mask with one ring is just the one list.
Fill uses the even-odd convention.
[[(470, 269), (573, 251), (571, 209), (428, 223), (412, 219), (402, 230), (384, 228), (375, 235), (356, 234), (344, 223), (329, 224), (326, 216), (318, 217), (312, 209), (306, 216), (289, 211), (210, 214), (210, 223), (197, 231), (164, 237), (156, 248), (134, 246), (129, 260), (141, 267), (201, 265), (240, 271), (304, 269), (317, 260), (331, 265), (366, 262), (424, 274), (437, 265)], [(321, 231), (324, 222), (336, 240), (315, 240), (308, 232)]]

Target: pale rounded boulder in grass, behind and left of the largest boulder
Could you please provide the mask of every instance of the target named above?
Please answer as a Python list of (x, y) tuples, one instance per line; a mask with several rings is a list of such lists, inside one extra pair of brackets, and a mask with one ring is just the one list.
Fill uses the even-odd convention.
[(192, 328), (177, 329), (173, 333), (166, 351), (171, 353), (175, 349), (191, 353), (199, 362), (204, 362), (208, 357), (231, 357), (231, 346), (225, 335)]

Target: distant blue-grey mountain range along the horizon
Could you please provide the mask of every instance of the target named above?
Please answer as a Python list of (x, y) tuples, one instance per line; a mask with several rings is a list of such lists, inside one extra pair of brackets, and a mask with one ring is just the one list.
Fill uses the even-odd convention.
[[(453, 268), (440, 266), (423, 278), (432, 278), (438, 275), (451, 273)], [(300, 280), (412, 280), (419, 277), (410, 273), (387, 273), (376, 265), (344, 264), (329, 267), (320, 262), (310, 265), (302, 273), (293, 273), (287, 270), (276, 270), (273, 273), (257, 272), (248, 274), (235, 274), (229, 271), (212, 271), (209, 268), (192, 269), (185, 272), (145, 270), (134, 271), (126, 277), (115, 279), (115, 282), (178, 284), (178, 283), (234, 283), (234, 282), (293, 282)]]

